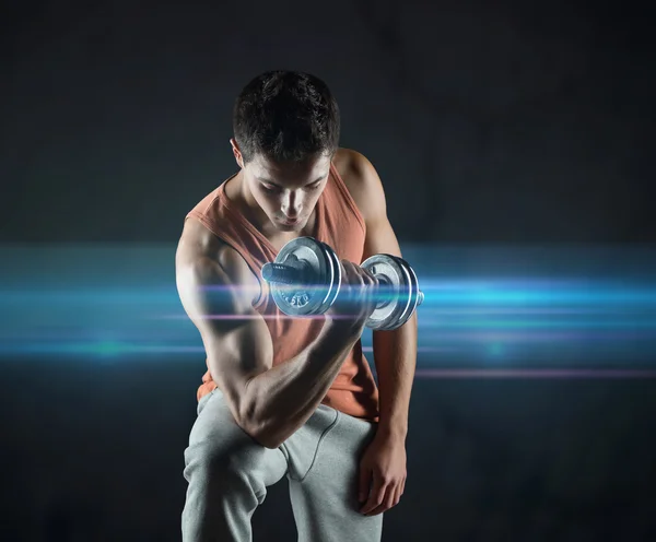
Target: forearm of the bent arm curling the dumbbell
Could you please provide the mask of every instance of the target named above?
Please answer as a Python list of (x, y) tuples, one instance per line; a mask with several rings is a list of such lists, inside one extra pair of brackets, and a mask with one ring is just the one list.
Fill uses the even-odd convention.
[(298, 355), (251, 378), (245, 398), (247, 432), (267, 448), (292, 436), (321, 403), (359, 337), (326, 322)]

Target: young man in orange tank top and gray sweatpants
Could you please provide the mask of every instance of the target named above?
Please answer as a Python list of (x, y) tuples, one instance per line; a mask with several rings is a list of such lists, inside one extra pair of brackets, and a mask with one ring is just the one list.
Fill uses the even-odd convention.
[[(362, 353), (376, 280), (359, 263), (400, 256), (380, 179), (338, 146), (337, 103), (311, 74), (254, 79), (233, 128), (239, 170), (189, 212), (176, 254), (208, 366), (185, 450), (183, 540), (251, 540), (253, 512), (286, 476), (300, 541), (379, 541), (383, 512), (403, 493), (417, 357), (417, 316), (374, 331), (379, 390)], [(323, 317), (285, 317), (261, 279), (300, 236), (341, 260), (342, 288)]]

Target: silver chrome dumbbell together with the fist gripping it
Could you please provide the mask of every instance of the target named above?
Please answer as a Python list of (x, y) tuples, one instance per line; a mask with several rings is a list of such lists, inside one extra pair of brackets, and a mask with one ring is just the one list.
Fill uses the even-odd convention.
[(417, 274), (402, 258), (375, 255), (361, 266), (339, 260), (313, 237), (288, 243), (262, 267), (278, 308), (289, 316), (329, 316), (374, 330), (401, 327), (423, 301)]

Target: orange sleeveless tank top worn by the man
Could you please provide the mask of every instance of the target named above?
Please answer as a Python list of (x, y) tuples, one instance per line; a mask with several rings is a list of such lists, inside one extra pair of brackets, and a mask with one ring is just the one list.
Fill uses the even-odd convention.
[[(258, 278), (261, 295), (253, 307), (265, 316), (273, 343), (273, 365), (278, 365), (309, 345), (325, 326), (325, 319), (290, 318), (276, 306), (269, 295), (267, 282), (261, 279), (261, 269), (265, 263), (276, 260), (278, 251), (229, 200), (225, 195), (227, 180), (230, 178), (206, 196), (187, 217), (192, 216), (200, 221), (214, 235), (232, 246)], [(364, 220), (333, 164), (330, 165), (328, 181), (316, 204), (313, 237), (332, 247), (340, 259), (362, 263)], [(197, 399), (200, 400), (214, 388), (216, 384), (208, 365), (202, 385), (198, 388)], [(321, 402), (344, 414), (378, 422), (378, 389), (362, 352), (361, 340), (347, 356)]]

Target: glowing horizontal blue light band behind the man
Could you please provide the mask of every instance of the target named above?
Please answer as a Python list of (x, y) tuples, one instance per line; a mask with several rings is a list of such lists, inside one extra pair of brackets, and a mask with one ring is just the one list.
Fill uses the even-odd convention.
[[(621, 378), (656, 369), (656, 247), (403, 252), (424, 293), (418, 376)], [(179, 302), (174, 255), (175, 246), (4, 247), (0, 356), (203, 357)], [(373, 362), (370, 330), (363, 346)]]

